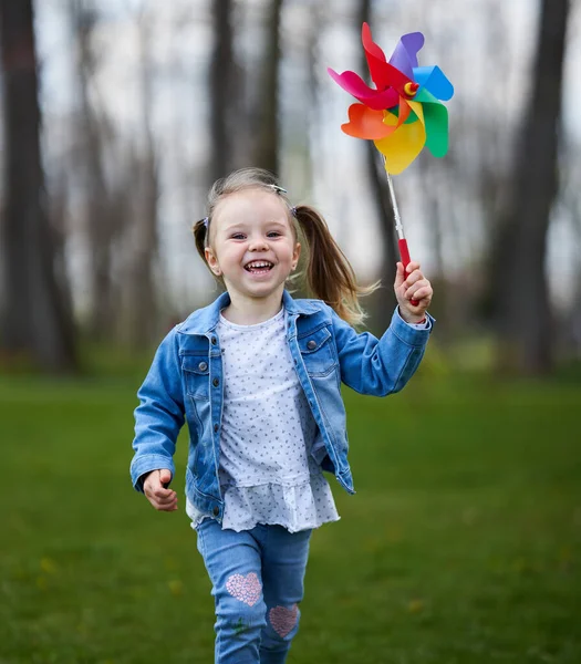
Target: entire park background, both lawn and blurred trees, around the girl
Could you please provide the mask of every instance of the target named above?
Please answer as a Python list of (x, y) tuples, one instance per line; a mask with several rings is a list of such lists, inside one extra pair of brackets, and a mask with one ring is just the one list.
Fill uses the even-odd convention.
[(322, 211), (382, 279), (385, 330), (385, 173), (326, 73), (366, 76), (363, 21), (387, 56), (422, 31), (455, 85), (447, 156), (394, 177), (437, 329), (402, 395), (345, 394), (360, 495), (313, 540), (290, 661), (581, 661), (581, 2), (0, 0), (0, 662), (147, 662), (169, 633), (167, 661), (211, 661), (195, 538), (131, 492), (134, 395), (217, 294), (191, 225), (238, 167)]

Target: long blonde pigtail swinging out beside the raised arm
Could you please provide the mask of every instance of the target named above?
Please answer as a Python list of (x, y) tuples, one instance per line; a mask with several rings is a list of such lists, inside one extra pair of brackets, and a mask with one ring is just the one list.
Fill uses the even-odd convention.
[(359, 298), (375, 291), (380, 288), (380, 282), (369, 287), (357, 284), (351, 263), (319, 212), (307, 205), (298, 206), (293, 212), (309, 245), (309, 290), (315, 298), (326, 302), (344, 321), (360, 325), (365, 319), (365, 312)]

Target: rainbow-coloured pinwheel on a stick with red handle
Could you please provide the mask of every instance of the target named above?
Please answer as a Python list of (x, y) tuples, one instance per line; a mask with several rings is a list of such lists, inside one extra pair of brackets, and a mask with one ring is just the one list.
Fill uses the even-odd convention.
[(421, 32), (404, 34), (390, 61), (373, 41), (371, 29), (363, 23), (362, 42), (374, 87), (355, 72), (331, 77), (360, 103), (349, 107), (349, 123), (343, 132), (355, 138), (373, 141), (383, 155), (392, 198), (400, 253), (404, 266), (409, 262), (391, 175), (402, 173), (422, 152), (424, 145), (435, 157), (448, 151), (448, 112), (442, 103), (454, 87), (438, 66), (419, 66), (417, 53), (424, 45)]

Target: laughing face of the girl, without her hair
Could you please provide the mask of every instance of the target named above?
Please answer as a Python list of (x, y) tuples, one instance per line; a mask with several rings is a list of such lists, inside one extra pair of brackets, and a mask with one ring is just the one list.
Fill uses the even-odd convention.
[(222, 277), (230, 297), (282, 297), (300, 250), (287, 205), (278, 194), (259, 187), (245, 189), (216, 206), (206, 260)]

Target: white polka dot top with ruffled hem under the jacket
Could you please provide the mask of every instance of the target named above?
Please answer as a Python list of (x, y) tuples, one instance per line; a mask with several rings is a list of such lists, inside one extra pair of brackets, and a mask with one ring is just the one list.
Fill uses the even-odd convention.
[[(336, 521), (333, 495), (311, 455), (317, 424), (294, 372), (284, 310), (255, 325), (220, 315), (224, 405), (219, 479), (222, 528), (280, 525), (290, 532)], [(203, 518), (194, 506), (196, 526)]]

